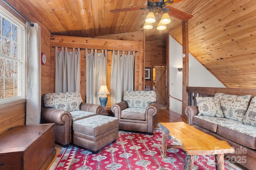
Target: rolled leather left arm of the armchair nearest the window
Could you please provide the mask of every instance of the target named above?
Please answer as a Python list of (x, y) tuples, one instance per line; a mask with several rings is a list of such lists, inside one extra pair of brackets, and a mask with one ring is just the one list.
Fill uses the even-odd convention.
[(41, 117), (45, 123), (55, 123), (56, 142), (63, 146), (67, 146), (71, 142), (72, 117), (68, 111), (42, 107)]

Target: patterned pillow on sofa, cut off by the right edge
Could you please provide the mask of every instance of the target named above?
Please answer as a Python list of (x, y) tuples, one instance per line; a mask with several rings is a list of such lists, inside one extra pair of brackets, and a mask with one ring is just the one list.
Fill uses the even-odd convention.
[(248, 107), (245, 116), (244, 124), (255, 126), (256, 127), (256, 96), (252, 98), (250, 106)]

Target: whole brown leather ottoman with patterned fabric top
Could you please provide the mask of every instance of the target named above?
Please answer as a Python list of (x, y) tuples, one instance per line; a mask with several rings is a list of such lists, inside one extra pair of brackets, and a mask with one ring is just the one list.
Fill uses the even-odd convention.
[(118, 138), (118, 118), (105, 115), (95, 115), (74, 121), (74, 145), (92, 150), (99, 149)]

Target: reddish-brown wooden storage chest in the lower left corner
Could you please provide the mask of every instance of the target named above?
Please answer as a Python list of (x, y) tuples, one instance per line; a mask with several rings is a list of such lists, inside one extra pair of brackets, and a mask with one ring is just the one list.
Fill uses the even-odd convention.
[(0, 170), (45, 170), (56, 154), (54, 123), (16, 126), (0, 135)]

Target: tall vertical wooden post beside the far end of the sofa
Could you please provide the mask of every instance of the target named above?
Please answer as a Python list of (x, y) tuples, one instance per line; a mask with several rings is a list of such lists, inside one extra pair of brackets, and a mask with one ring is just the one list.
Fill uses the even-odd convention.
[(182, 21), (182, 53), (183, 70), (182, 70), (182, 117), (186, 117), (185, 109), (188, 106), (188, 21)]

